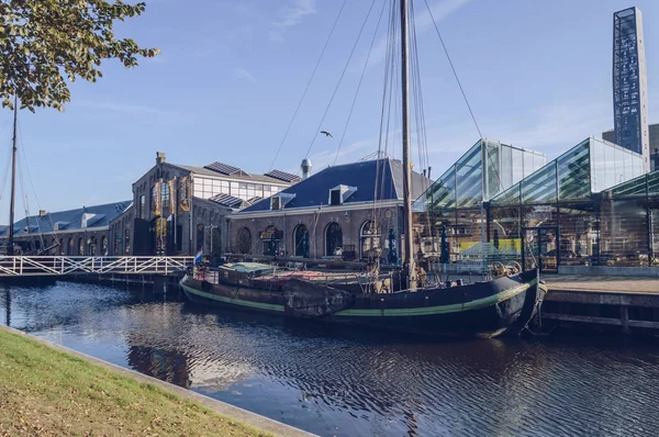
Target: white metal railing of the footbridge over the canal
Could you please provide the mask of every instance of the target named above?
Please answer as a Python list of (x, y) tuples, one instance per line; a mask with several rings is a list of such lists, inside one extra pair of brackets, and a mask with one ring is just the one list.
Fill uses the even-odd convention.
[(0, 277), (66, 274), (169, 274), (186, 270), (193, 257), (0, 256)]

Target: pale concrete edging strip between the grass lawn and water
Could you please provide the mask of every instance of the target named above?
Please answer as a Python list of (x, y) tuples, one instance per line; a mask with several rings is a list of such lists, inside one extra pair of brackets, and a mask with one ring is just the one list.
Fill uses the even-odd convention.
[[(227, 404), (227, 403), (224, 403), (221, 401), (216, 401), (214, 399), (204, 396), (203, 394), (192, 392), (190, 390), (180, 388), (178, 385), (170, 384), (165, 381), (160, 381), (159, 379), (152, 378), (152, 377), (145, 376), (143, 373), (138, 373), (138, 372), (135, 372), (135, 371), (132, 371), (129, 369), (124, 369), (122, 367), (119, 367), (119, 366), (112, 365), (110, 362), (100, 360), (98, 358), (88, 356), (86, 354), (81, 354), (76, 350), (69, 349), (65, 346), (60, 346), (60, 345), (57, 345), (54, 343), (46, 341), (42, 338), (31, 336), (29, 334), (23, 333), (22, 330), (18, 330), (18, 329), (11, 328), (9, 326), (4, 326), (4, 325), (0, 325), (0, 329), (10, 332), (10, 333), (13, 333), (16, 335), (30, 337), (34, 341), (41, 343), (49, 348), (59, 350), (59, 351), (70, 355), (70, 356), (78, 357), (88, 362), (91, 362), (93, 365), (105, 368), (114, 373), (119, 373), (124, 377), (132, 378), (138, 382), (150, 383), (150, 384), (157, 385), (160, 389), (163, 389), (169, 393), (178, 395), (179, 397), (202, 404), (203, 406), (205, 406), (212, 411), (215, 411), (220, 415), (231, 417), (235, 421), (242, 422), (246, 425), (249, 425), (257, 429), (261, 429), (261, 430), (270, 433), (272, 435), (282, 436), (282, 437), (313, 437), (313, 436), (315, 436), (314, 434), (311, 434), (311, 433), (298, 429), (295, 427), (282, 424), (280, 422), (258, 415), (256, 413), (252, 413), (249, 411), (239, 408), (237, 406), (233, 406), (231, 404)], [(185, 435), (185, 434), (186, 434), (185, 429), (181, 429), (181, 435)]]

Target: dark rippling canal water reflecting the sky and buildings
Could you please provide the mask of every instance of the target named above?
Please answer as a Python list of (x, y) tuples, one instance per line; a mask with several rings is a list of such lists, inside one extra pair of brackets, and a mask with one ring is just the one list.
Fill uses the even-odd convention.
[(0, 285), (0, 322), (322, 436), (657, 435), (659, 345), (437, 340), (209, 310), (179, 291)]

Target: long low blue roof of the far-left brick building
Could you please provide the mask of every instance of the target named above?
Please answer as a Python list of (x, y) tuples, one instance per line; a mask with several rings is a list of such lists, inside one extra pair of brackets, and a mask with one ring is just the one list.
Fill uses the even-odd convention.
[[(32, 215), (27, 218), (22, 218), (14, 224), (14, 235), (26, 234), (25, 227), (30, 222), (31, 233), (46, 233), (53, 232), (55, 223), (67, 223), (66, 227), (59, 231), (80, 229), (82, 227), (82, 214), (93, 214), (89, 216), (88, 227), (100, 227), (108, 226), (110, 221), (114, 220), (118, 215), (123, 213), (126, 208), (131, 205), (130, 200), (123, 202), (108, 203), (104, 205), (83, 206), (77, 210), (58, 211), (53, 213), (46, 213), (44, 216)], [(5, 236), (8, 229), (0, 227), (0, 235)]]

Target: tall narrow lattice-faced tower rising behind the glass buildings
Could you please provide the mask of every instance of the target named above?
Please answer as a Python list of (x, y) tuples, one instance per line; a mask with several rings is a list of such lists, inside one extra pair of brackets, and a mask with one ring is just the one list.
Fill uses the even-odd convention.
[(613, 120), (615, 143), (641, 154), (650, 170), (643, 19), (636, 7), (613, 14)]

